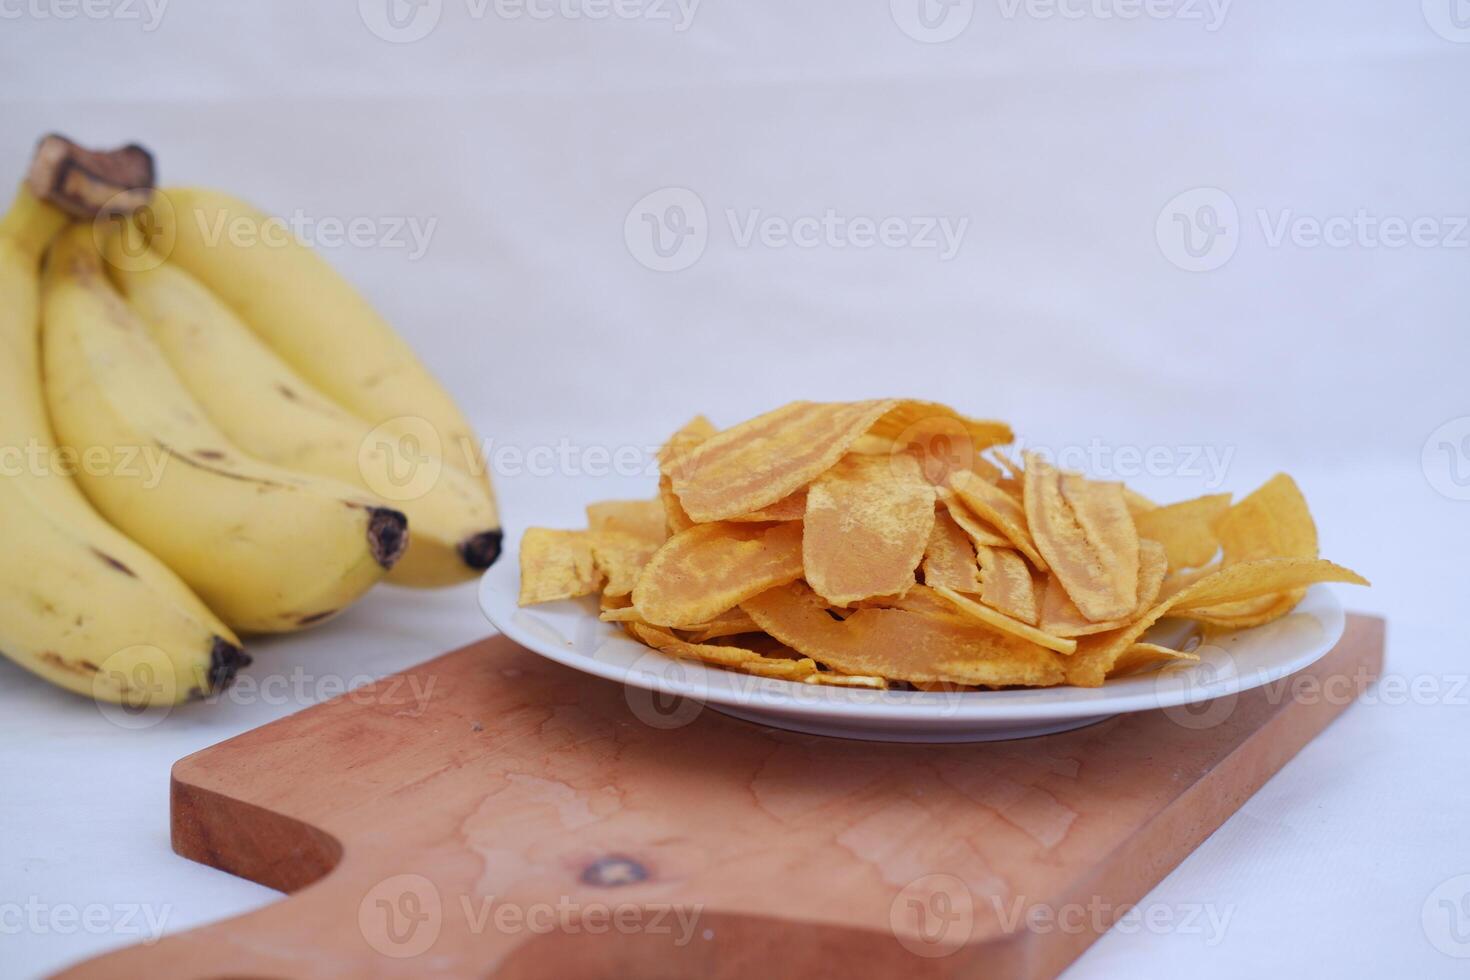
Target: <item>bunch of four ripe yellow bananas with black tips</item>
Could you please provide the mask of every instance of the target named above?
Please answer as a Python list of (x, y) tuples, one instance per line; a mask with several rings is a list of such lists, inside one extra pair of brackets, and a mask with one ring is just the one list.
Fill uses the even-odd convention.
[(0, 219), (0, 651), (129, 707), (501, 541), (473, 430), (362, 297), (301, 244), (201, 235), (247, 204), (163, 194), (151, 226), (28, 187)]

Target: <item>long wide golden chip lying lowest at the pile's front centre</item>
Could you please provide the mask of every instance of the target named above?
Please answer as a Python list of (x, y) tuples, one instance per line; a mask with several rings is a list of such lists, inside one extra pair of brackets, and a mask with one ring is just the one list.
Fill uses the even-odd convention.
[(763, 630), (845, 674), (991, 688), (1050, 686), (1063, 679), (1061, 657), (991, 629), (888, 608), (861, 608), (835, 620), (826, 601), (803, 582), (769, 589), (742, 605)]

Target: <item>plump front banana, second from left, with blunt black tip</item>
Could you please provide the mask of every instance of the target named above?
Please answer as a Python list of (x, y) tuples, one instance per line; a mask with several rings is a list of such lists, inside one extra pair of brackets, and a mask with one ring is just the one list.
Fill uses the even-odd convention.
[(226, 623), (319, 623), (403, 554), (400, 511), (254, 460), (209, 422), (107, 281), (91, 226), (53, 242), (41, 303), (47, 403), (82, 491)]

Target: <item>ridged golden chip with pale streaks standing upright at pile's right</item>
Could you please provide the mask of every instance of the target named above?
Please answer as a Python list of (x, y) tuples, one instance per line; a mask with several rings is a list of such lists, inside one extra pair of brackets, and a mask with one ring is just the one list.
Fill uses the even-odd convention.
[(1088, 620), (1133, 611), (1138, 601), (1138, 530), (1120, 483), (1061, 473), (1026, 454), (1026, 520), (1053, 574)]

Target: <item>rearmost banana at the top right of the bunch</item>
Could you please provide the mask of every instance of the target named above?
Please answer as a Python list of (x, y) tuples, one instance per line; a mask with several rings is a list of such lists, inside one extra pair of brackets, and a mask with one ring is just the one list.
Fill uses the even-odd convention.
[[(369, 425), (423, 419), (440, 455), (484, 482), (475, 432), (407, 344), (278, 219), (203, 188), (168, 188), (160, 250), (203, 282), (323, 394)], [(244, 234), (240, 234), (240, 232)]]

